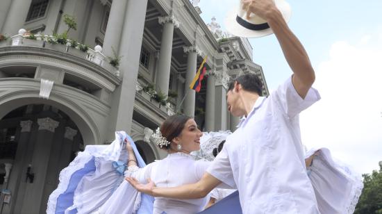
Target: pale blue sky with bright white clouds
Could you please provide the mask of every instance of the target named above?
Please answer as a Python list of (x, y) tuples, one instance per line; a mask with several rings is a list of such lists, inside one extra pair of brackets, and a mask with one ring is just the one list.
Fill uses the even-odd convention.
[[(201, 0), (201, 17), (224, 28), (239, 1)], [(326, 147), (356, 172), (382, 161), (382, 1), (288, 1), (288, 26), (304, 45), (322, 99), (300, 115), (306, 147)], [(269, 92), (292, 74), (274, 35), (249, 39)]]

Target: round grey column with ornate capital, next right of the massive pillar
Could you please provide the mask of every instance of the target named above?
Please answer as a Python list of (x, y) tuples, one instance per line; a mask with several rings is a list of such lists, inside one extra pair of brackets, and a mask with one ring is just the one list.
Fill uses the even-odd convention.
[(159, 24), (163, 25), (162, 42), (160, 43), (158, 76), (156, 79), (156, 90), (167, 96), (169, 91), (169, 74), (171, 68), (172, 40), (174, 35), (174, 26), (179, 27), (178, 21), (173, 15), (159, 17)]

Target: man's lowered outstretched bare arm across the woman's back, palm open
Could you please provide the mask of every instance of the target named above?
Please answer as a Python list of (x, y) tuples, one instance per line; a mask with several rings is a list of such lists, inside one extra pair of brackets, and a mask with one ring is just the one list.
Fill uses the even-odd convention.
[(141, 184), (134, 178), (126, 177), (126, 181), (131, 184), (135, 189), (144, 192), (153, 197), (171, 197), (176, 199), (198, 199), (205, 197), (208, 192), (213, 190), (222, 181), (216, 179), (208, 172), (204, 173), (197, 183), (185, 184), (175, 188), (157, 188), (152, 181), (147, 184)]

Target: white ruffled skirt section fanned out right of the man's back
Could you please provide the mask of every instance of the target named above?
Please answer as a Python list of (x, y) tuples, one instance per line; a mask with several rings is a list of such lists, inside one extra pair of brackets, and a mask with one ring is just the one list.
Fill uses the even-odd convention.
[(362, 176), (341, 161), (335, 160), (326, 148), (310, 149), (305, 158), (315, 153), (307, 172), (315, 190), (319, 212), (354, 213), (363, 189)]

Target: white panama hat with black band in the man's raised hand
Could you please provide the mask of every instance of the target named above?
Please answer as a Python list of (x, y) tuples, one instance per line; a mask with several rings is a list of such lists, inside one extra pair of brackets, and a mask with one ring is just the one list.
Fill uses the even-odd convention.
[[(284, 0), (274, 0), (274, 3), (285, 21), (289, 22), (292, 13), (289, 4)], [(258, 38), (273, 33), (267, 22), (256, 14), (252, 13), (247, 19), (247, 11), (243, 10), (242, 6), (242, 0), (239, 0), (238, 10), (232, 10), (226, 16), (225, 24), (229, 33), (244, 38)]]

